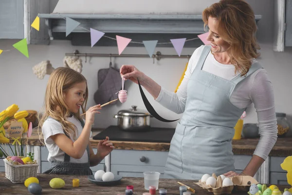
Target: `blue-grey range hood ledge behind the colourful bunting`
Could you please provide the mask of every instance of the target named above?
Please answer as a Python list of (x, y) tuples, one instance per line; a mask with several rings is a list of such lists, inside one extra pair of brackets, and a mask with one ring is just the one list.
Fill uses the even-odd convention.
[[(38, 14), (45, 19), (50, 39), (70, 39), (73, 45), (90, 45), (90, 28), (106, 33), (128, 37), (132, 41), (169, 39), (192, 39), (205, 33), (201, 15), (128, 15), (128, 14)], [(81, 24), (66, 37), (66, 17)], [(256, 22), (261, 15), (256, 15)], [(192, 42), (192, 43), (191, 43)], [(186, 42), (185, 47), (201, 44), (201, 40)], [(100, 39), (96, 46), (116, 45), (114, 40)], [(129, 46), (139, 46), (130, 43)], [(166, 45), (165, 45), (166, 46)]]

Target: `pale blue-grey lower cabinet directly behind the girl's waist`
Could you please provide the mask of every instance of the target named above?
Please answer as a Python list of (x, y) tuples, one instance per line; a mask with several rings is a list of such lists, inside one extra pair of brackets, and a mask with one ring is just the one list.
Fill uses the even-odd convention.
[[(96, 154), (97, 149), (93, 148), (93, 152), (94, 154)], [(43, 173), (44, 171), (48, 170), (51, 167), (51, 163), (48, 162), (48, 155), (49, 155), (48, 149), (45, 146), (40, 146), (40, 159), (41, 159), (40, 172), (41, 173)], [(103, 159), (98, 165), (91, 167), (91, 170), (93, 174), (98, 170), (106, 171), (105, 159)]]

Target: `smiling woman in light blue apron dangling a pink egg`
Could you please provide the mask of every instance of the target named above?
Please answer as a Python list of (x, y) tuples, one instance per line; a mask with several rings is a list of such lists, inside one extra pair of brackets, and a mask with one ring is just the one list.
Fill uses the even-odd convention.
[(132, 65), (121, 76), (141, 85), (164, 107), (183, 113), (170, 143), (165, 174), (201, 179), (203, 174), (237, 176), (232, 153), (234, 126), (255, 104), (260, 140), (240, 175), (254, 176), (277, 138), (274, 92), (256, 61), (255, 15), (243, 0), (220, 0), (202, 13), (211, 46), (195, 50), (177, 93), (166, 91)]

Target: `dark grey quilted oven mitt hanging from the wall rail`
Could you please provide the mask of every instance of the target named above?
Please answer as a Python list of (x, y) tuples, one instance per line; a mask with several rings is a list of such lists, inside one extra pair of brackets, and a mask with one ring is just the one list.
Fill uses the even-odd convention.
[[(109, 68), (108, 72), (103, 70), (99, 72), (103, 80), (98, 78), (98, 87), (97, 91), (94, 93), (94, 101), (96, 104), (104, 104), (111, 100), (117, 99), (118, 91), (122, 89), (121, 75), (120, 72), (114, 68)], [(106, 74), (106, 76), (105, 76)], [(115, 102), (111, 103), (113, 105)]]

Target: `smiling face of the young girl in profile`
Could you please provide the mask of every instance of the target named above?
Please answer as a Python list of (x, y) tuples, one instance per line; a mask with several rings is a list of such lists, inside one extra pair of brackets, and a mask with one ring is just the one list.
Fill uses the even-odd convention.
[(65, 101), (72, 113), (77, 113), (86, 97), (86, 82), (79, 82), (65, 92)]

